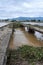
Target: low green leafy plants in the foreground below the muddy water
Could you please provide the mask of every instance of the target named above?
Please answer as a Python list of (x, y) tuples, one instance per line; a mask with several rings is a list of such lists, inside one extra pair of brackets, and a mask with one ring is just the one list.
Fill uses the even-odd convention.
[[(32, 47), (24, 45), (16, 50), (10, 50), (9, 65), (35, 65), (34, 62), (43, 62), (43, 47)], [(27, 64), (26, 64), (27, 62)]]

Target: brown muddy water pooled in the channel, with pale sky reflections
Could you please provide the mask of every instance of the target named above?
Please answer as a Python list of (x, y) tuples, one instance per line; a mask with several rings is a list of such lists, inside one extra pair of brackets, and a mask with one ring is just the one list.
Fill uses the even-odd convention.
[[(42, 37), (41, 37), (42, 36)], [(10, 41), (10, 49), (16, 49), (22, 45), (43, 46), (43, 35), (35, 31), (35, 34), (28, 33), (27, 30), (15, 29)]]

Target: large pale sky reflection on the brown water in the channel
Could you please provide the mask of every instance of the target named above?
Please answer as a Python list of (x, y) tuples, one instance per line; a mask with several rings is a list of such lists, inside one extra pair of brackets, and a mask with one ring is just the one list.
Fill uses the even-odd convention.
[(18, 48), (19, 46), (27, 45), (28, 43), (29, 42), (25, 37), (24, 32), (21, 29), (15, 29), (13, 34), (13, 41), (10, 42), (10, 48)]

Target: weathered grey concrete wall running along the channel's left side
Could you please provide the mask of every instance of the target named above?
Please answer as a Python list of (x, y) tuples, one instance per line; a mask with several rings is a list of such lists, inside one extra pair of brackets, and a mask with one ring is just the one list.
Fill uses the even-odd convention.
[(12, 35), (12, 30), (8, 30), (6, 34), (0, 37), (0, 65), (6, 65), (7, 60), (7, 48), (9, 46), (9, 40)]

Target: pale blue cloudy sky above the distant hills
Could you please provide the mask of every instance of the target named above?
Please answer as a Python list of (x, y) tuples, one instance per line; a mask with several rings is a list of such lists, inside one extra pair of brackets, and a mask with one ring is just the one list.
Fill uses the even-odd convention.
[(43, 0), (0, 0), (0, 19), (43, 17)]

